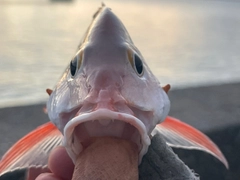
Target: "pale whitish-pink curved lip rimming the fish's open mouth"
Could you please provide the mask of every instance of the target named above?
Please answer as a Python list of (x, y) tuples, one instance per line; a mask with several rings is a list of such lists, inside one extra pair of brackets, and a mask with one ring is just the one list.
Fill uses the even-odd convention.
[(74, 152), (73, 150), (72, 138), (73, 138), (75, 127), (81, 123), (92, 121), (93, 119), (97, 119), (99, 117), (107, 117), (111, 119), (124, 121), (134, 126), (138, 130), (141, 137), (141, 144), (142, 144), (142, 149), (139, 152), (139, 164), (140, 164), (142, 157), (147, 153), (148, 146), (150, 145), (150, 137), (147, 134), (145, 125), (142, 123), (141, 120), (139, 120), (133, 115), (122, 113), (122, 112), (115, 112), (108, 109), (98, 109), (93, 112), (83, 113), (81, 115), (74, 117), (65, 125), (63, 145), (65, 146), (73, 163), (75, 164), (78, 154), (83, 150), (83, 146), (81, 143), (79, 143), (79, 146), (77, 147), (76, 151), (78, 152)]

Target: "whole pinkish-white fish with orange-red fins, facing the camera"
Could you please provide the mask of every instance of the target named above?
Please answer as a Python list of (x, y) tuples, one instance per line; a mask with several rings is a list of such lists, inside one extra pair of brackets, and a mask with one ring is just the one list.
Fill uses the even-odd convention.
[(53, 90), (47, 89), (50, 122), (6, 152), (0, 177), (23, 168), (35, 175), (49, 171), (49, 153), (61, 144), (75, 163), (84, 144), (104, 136), (134, 142), (139, 164), (151, 137), (160, 134), (169, 146), (210, 153), (228, 168), (226, 158), (206, 135), (168, 116), (169, 89), (151, 72), (123, 23), (102, 5), (59, 82)]

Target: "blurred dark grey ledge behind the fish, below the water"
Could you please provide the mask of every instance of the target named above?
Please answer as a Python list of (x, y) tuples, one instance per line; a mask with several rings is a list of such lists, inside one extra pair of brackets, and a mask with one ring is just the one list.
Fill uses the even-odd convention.
[[(210, 155), (176, 150), (201, 179), (240, 178), (240, 83), (172, 90), (170, 115), (205, 132), (223, 151), (230, 170)], [(0, 109), (0, 155), (19, 138), (48, 121), (44, 104)]]

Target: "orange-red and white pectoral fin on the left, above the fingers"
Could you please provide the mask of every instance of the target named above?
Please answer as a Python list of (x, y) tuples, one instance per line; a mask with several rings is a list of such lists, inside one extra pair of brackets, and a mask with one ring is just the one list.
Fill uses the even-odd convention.
[(0, 161), (0, 177), (18, 168), (46, 167), (50, 151), (61, 141), (61, 132), (51, 122), (39, 126), (6, 152)]

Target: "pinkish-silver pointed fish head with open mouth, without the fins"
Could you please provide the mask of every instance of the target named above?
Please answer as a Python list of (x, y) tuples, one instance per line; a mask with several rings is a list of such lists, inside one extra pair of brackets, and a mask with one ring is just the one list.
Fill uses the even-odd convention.
[(133, 141), (141, 162), (149, 135), (169, 109), (167, 94), (122, 22), (100, 8), (47, 103), (73, 162), (90, 138), (100, 136)]

